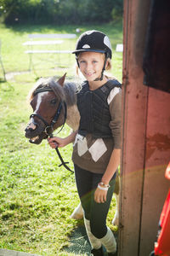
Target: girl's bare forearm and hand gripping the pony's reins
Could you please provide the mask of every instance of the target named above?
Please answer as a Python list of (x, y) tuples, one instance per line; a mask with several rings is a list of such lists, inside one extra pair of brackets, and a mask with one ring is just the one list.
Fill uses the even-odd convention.
[(75, 137), (77, 136), (77, 131), (71, 132), (68, 137), (51, 137), (48, 138), (48, 143), (51, 148), (59, 148), (65, 147), (66, 145), (73, 143), (75, 141)]

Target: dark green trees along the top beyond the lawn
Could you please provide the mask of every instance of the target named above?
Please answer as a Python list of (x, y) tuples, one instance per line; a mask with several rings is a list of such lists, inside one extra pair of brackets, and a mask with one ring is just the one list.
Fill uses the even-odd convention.
[(6, 23), (108, 22), (122, 16), (122, 0), (0, 0)]

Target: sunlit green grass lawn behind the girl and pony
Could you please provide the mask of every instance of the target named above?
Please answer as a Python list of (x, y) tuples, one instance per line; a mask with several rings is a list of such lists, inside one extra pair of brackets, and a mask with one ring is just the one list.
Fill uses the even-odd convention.
[[(5, 70), (7, 73), (22, 72), (8, 82), (0, 83), (0, 248), (52, 256), (74, 255), (64, 250), (65, 246), (69, 246), (71, 233), (82, 224), (81, 220), (70, 218), (79, 202), (74, 175), (58, 167), (58, 157), (46, 141), (38, 146), (29, 143), (24, 129), (31, 114), (26, 96), (37, 77), (60, 76), (67, 72), (67, 78), (74, 79), (75, 60), (69, 55), (60, 56), (60, 60), (56, 55), (36, 55), (36, 73), (29, 73), (29, 60), (22, 44), (28, 39), (28, 33), (75, 33), (77, 27), (82, 32), (98, 29), (109, 35), (113, 46), (112, 73), (122, 81), (122, 53), (114, 50), (116, 44), (122, 44), (121, 24), (59, 27), (0, 25)], [(71, 45), (75, 43), (73, 39)], [(68, 49), (70, 42), (66, 41), (62, 47)], [(69, 132), (70, 128), (65, 125), (59, 136), (65, 137)], [(69, 160), (73, 169), (71, 145), (61, 148), (60, 153), (65, 160)], [(112, 230), (114, 209), (113, 200), (108, 217)]]

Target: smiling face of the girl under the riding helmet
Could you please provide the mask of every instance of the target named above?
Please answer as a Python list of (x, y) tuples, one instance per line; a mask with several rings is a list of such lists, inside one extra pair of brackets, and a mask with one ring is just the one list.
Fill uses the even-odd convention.
[(85, 79), (94, 81), (101, 76), (104, 67), (105, 54), (99, 52), (85, 51), (78, 55), (78, 63), (80, 71)]

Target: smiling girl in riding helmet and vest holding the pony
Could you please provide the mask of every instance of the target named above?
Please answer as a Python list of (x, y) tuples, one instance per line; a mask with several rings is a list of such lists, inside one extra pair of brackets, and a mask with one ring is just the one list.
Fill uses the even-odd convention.
[(77, 190), (84, 212), (84, 224), (91, 253), (116, 255), (116, 240), (106, 217), (114, 191), (121, 154), (121, 84), (109, 79), (111, 43), (99, 31), (84, 32), (77, 40), (77, 66), (86, 79), (77, 93), (81, 119), (78, 131), (65, 138), (48, 139), (52, 148), (74, 142), (72, 160)]

